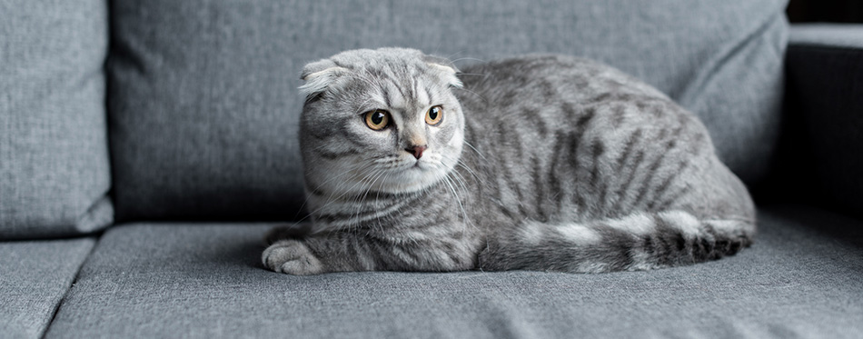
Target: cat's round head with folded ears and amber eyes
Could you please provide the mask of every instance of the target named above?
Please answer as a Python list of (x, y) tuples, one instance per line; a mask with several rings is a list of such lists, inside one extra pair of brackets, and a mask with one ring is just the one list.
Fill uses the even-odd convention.
[(306, 188), (331, 195), (418, 192), (457, 164), (461, 87), (450, 61), (402, 48), (352, 50), (303, 68)]

